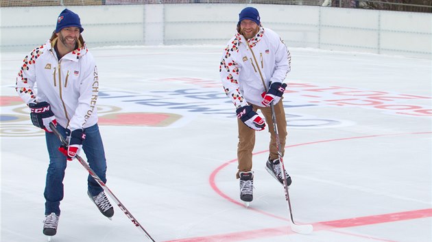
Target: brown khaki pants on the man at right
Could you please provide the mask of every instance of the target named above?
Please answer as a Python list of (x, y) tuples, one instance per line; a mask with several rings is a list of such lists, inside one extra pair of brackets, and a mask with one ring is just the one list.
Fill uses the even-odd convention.
[[(260, 109), (267, 123), (266, 129), (270, 133), (269, 157), (270, 159), (278, 159), (278, 148), (276, 146), (276, 134), (274, 133), (272, 107), (257, 107), (253, 106), (254, 111)], [(278, 126), (278, 134), (280, 141), (280, 150), (282, 156), (285, 153), (285, 140), (287, 139), (287, 119), (285, 118), (285, 110), (283, 109), (282, 100), (274, 105), (274, 113), (276, 115), (276, 124)], [(239, 144), (237, 146), (237, 159), (239, 162), (236, 177), (239, 178), (239, 172), (249, 172), (252, 170), (252, 151), (255, 146), (255, 132), (246, 124), (237, 119), (239, 127)]]

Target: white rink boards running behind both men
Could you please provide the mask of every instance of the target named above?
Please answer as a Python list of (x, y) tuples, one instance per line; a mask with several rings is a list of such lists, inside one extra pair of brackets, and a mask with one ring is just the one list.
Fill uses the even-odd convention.
[[(88, 46), (221, 44), (234, 35), (246, 4), (70, 6)], [(290, 47), (432, 57), (432, 14), (254, 4), (264, 27)], [(64, 7), (1, 8), (1, 51), (43, 44)]]

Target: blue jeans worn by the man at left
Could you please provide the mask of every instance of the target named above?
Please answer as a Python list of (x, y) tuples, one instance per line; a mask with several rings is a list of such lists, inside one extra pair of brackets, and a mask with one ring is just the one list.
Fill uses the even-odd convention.
[[(66, 136), (66, 129), (57, 125), (57, 130), (63, 137)], [(86, 139), (82, 143), (82, 150), (86, 154), (88, 165), (91, 169), (106, 183), (106, 158), (104, 152), (104, 144), (102, 144), (101, 134), (99, 133), (99, 126), (97, 124), (84, 129)], [(67, 161), (64, 154), (62, 154), (58, 147), (61, 145), (60, 139), (54, 133), (45, 133), (47, 141), (47, 148), (49, 154), (49, 166), (47, 170), (47, 180), (45, 183), (45, 215), (56, 213), (60, 215), (60, 201), (63, 200), (63, 178), (64, 170), (66, 170), (67, 162), (79, 162), (76, 159)], [(88, 191), (92, 196), (96, 196), (103, 189), (99, 184), (88, 175)]]

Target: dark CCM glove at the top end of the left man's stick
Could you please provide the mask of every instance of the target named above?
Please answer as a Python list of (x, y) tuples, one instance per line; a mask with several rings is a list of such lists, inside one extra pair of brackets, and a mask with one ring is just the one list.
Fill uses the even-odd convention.
[(49, 127), (49, 123), (57, 125), (56, 116), (54, 116), (53, 111), (51, 111), (51, 106), (47, 102), (40, 103), (30, 103), (30, 118), (34, 126), (43, 129), (49, 133), (52, 132)]

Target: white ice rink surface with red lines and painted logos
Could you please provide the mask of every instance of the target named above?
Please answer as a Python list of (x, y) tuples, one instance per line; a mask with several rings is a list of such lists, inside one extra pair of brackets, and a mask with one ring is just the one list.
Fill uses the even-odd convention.
[[(432, 241), (431, 59), (291, 49), (285, 167), (293, 217), (315, 228), (303, 235), (289, 230), (283, 187), (265, 171), (267, 131), (256, 133), (254, 201), (239, 200), (223, 50), (91, 49), (107, 185), (156, 241)], [(14, 90), (26, 54), (1, 53), (5, 242), (46, 240), (45, 138)], [(86, 177), (69, 162), (52, 241), (147, 241), (117, 206), (112, 221), (97, 211)]]

